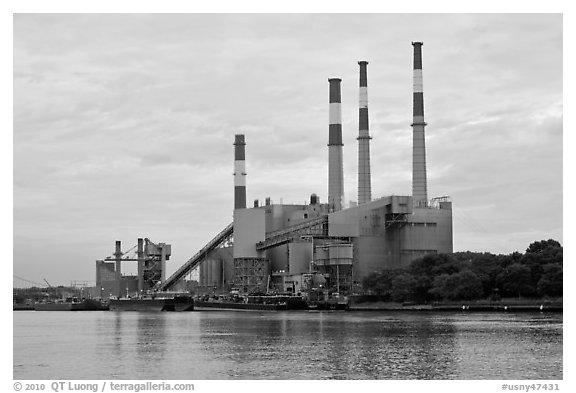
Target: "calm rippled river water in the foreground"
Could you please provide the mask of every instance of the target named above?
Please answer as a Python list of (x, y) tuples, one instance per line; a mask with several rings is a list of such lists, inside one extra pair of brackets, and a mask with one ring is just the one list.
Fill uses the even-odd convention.
[(562, 379), (561, 313), (13, 313), (14, 379)]

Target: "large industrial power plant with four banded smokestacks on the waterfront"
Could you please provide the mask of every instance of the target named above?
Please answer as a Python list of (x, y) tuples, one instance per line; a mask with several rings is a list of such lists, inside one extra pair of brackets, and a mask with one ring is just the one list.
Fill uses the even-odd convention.
[[(384, 268), (408, 265), (426, 254), (452, 253), (452, 202), (449, 197), (428, 199), (422, 42), (413, 42), (413, 154), (412, 195), (372, 199), (368, 117), (367, 61), (359, 61), (358, 203), (344, 204), (342, 100), (339, 78), (328, 79), (328, 198), (321, 203), (312, 193), (309, 203), (275, 204), (266, 198), (246, 203), (246, 138), (234, 139), (234, 214), (224, 228), (172, 276), (164, 279), (170, 245), (139, 246), (139, 291), (175, 288), (197, 269), (197, 293), (308, 294), (322, 288), (329, 293), (353, 294), (362, 279)], [(249, 142), (249, 141), (248, 141)], [(257, 176), (257, 174), (254, 174)], [(166, 251), (167, 250), (167, 251)], [(146, 270), (143, 252), (159, 261)], [(159, 253), (159, 257), (157, 254)], [(117, 250), (112, 264), (97, 262), (120, 283)], [(155, 259), (156, 258), (156, 259)], [(100, 271), (100, 273), (98, 273)], [(142, 274), (141, 274), (142, 272)], [(149, 279), (144, 279), (148, 272)], [(154, 279), (152, 279), (154, 278)], [(97, 277), (98, 280), (98, 277)], [(100, 280), (102, 281), (102, 279)], [(100, 286), (101, 284), (97, 284)], [(123, 285), (118, 284), (119, 292)]]

